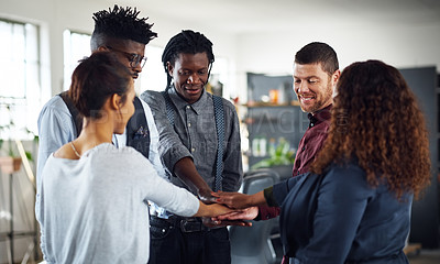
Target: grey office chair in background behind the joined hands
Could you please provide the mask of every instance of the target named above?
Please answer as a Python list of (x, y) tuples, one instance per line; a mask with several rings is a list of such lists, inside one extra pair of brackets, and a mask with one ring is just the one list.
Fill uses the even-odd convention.
[[(271, 169), (255, 169), (243, 177), (243, 194), (255, 194), (279, 182), (277, 173)], [(278, 219), (253, 221), (252, 227), (230, 227), (232, 264), (274, 264), (275, 250), (271, 231)]]

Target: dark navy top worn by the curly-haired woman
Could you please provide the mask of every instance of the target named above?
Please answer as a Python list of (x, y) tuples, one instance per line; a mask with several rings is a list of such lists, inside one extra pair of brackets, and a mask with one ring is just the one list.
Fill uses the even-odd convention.
[(290, 263), (408, 263), (403, 249), (413, 196), (399, 201), (386, 185), (371, 187), (356, 164), (294, 177), (273, 195)]

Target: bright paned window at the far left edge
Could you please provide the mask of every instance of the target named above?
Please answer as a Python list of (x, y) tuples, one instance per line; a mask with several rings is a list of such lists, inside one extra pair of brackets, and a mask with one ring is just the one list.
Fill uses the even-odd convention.
[(0, 138), (28, 139), (25, 129), (36, 133), (42, 103), (38, 26), (0, 19), (0, 127), (16, 128)]

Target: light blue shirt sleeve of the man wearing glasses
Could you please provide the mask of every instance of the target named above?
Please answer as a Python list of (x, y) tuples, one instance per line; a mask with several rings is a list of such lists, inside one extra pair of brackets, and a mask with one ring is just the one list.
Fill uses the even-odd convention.
[(36, 182), (41, 179), (47, 157), (64, 144), (73, 141), (76, 129), (72, 114), (59, 96), (52, 98), (38, 117), (38, 160)]

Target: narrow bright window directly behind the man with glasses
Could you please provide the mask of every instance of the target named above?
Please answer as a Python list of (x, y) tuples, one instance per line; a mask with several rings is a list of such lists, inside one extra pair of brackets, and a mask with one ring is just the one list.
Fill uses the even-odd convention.
[(90, 34), (64, 31), (64, 90), (68, 90), (72, 82), (72, 74), (78, 62), (90, 55)]

